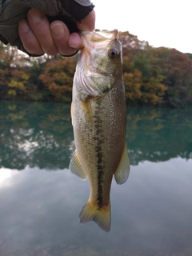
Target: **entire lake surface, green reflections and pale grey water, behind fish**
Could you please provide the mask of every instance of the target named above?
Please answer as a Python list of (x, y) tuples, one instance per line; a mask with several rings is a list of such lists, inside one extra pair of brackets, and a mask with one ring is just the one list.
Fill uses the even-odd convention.
[(192, 110), (127, 107), (130, 177), (111, 186), (111, 230), (78, 214), (70, 106), (0, 102), (1, 256), (191, 256)]

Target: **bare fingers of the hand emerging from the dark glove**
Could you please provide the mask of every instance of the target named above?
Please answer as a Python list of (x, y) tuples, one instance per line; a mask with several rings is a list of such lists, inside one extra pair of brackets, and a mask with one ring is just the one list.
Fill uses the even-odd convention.
[[(77, 22), (78, 30), (94, 30), (95, 12)], [(61, 21), (49, 22), (46, 15), (31, 9), (27, 14), (27, 21), (21, 20), (18, 26), (19, 36), (26, 51), (30, 54), (44, 53), (64, 56), (74, 55), (83, 47), (82, 39), (76, 32), (70, 34), (66, 24)]]

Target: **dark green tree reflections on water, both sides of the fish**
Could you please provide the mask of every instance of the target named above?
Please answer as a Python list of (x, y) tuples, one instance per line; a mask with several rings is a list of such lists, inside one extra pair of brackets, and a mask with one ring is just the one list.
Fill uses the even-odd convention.
[[(70, 106), (1, 102), (0, 166), (67, 168), (74, 151)], [(191, 110), (127, 110), (127, 145), (132, 165), (192, 158)]]

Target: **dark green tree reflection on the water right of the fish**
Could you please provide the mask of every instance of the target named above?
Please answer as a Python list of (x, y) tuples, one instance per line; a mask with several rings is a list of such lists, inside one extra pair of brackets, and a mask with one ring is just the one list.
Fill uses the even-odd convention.
[(128, 108), (127, 139), (132, 164), (192, 158), (191, 110)]

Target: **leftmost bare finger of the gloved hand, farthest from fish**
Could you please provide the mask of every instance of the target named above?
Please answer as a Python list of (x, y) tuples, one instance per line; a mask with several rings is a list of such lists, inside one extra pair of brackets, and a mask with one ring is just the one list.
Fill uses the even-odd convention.
[(30, 54), (42, 55), (44, 51), (40, 46), (34, 32), (30, 29), (29, 22), (21, 20), (18, 25), (18, 33), (22, 40), (22, 45)]

